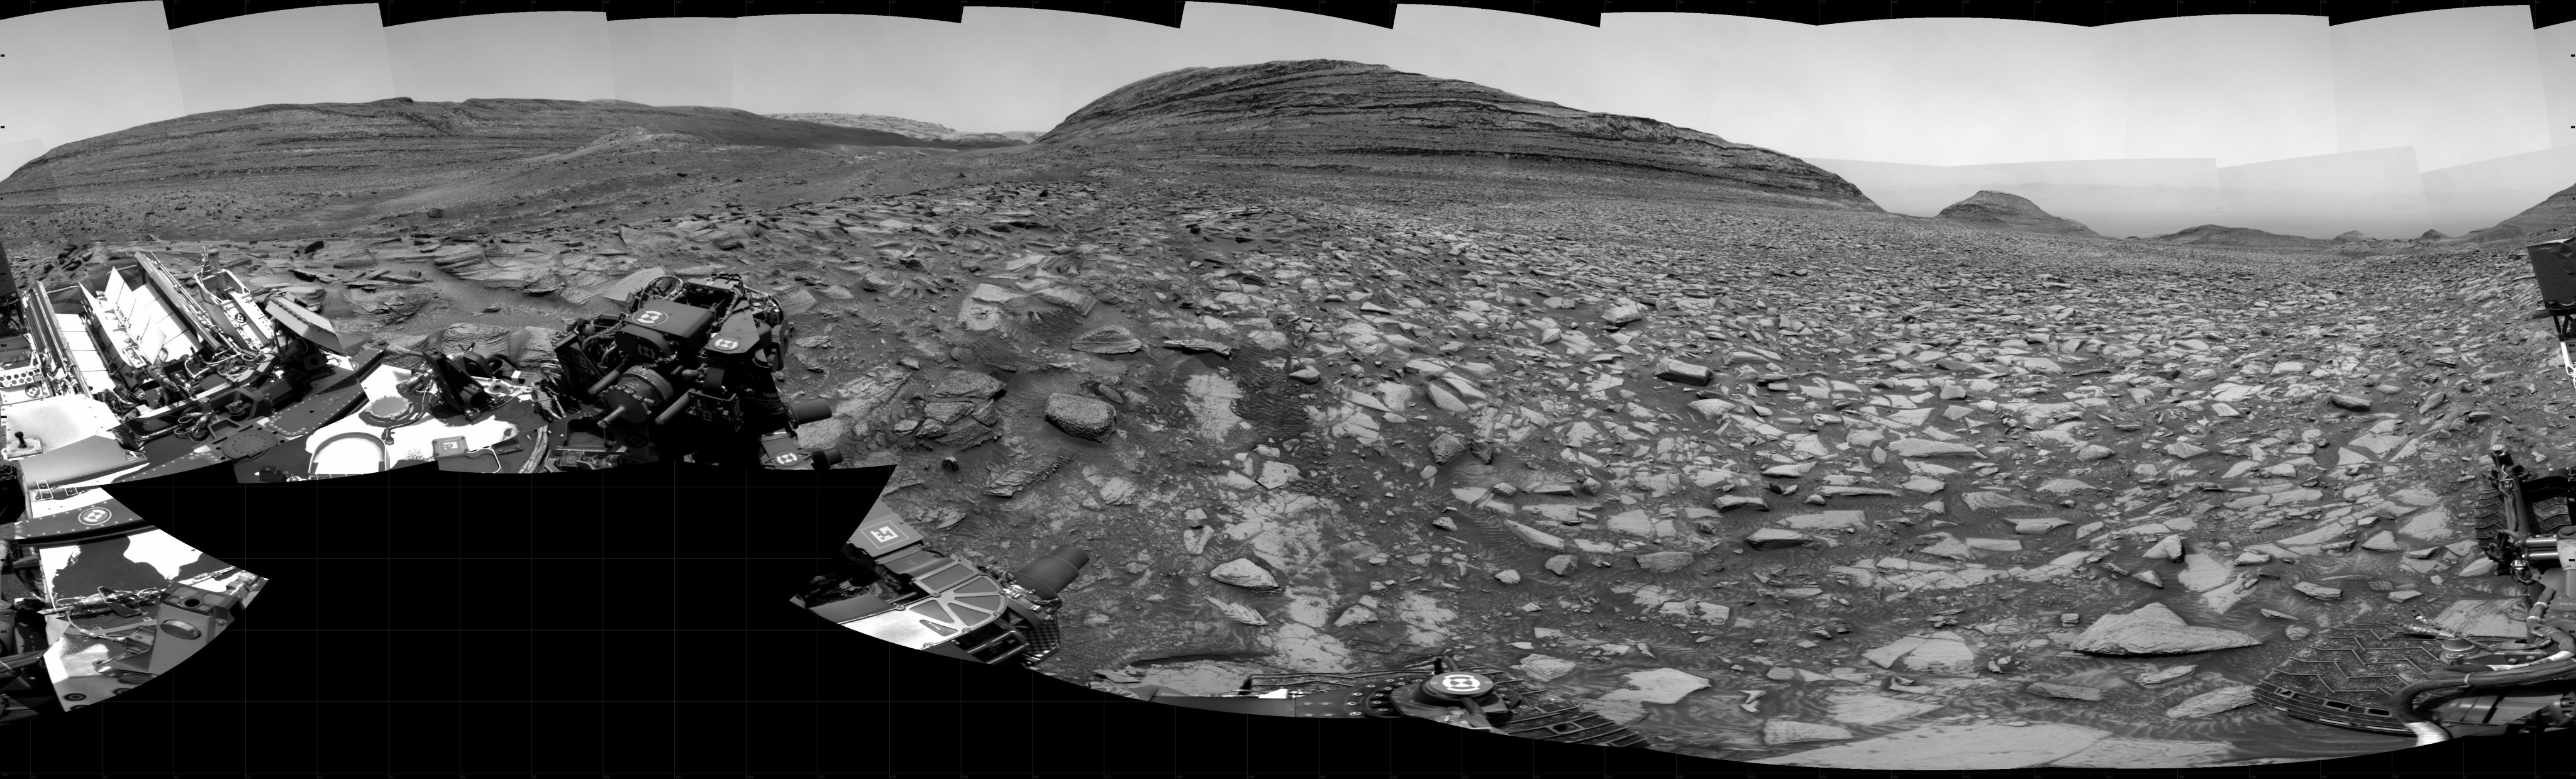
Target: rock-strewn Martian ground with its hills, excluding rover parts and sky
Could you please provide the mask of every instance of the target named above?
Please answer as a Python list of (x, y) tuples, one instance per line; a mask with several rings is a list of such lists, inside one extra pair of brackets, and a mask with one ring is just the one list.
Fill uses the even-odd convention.
[(201, 113), (28, 163), (0, 240), (21, 279), (237, 268), (374, 340), (744, 273), (804, 333), (788, 392), (837, 402), (806, 446), (894, 464), (881, 500), (943, 549), (1092, 552), (1046, 673), (1450, 653), (1731, 761), (2403, 748), (2251, 684), (2329, 624), (2491, 619), (2488, 436), (2576, 457), (2519, 242), (1901, 217), (1759, 147), (1350, 62), (1159, 75), (979, 150), (711, 111)]

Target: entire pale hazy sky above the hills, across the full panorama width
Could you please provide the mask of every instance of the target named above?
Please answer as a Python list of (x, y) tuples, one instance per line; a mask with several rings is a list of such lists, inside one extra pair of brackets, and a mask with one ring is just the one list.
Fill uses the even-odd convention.
[(327, 5), (167, 31), (160, 3), (118, 3), (0, 21), (0, 49), (5, 168), (44, 144), (196, 111), (389, 95), (1043, 132), (1146, 75), (1309, 57), (1654, 116), (1837, 160), (1888, 191), (2004, 181), (2102, 201), (2120, 186), (2146, 196), (2218, 181), (2267, 204), (2336, 191), (2349, 199), (2334, 209), (2380, 209), (2347, 214), (2380, 224), (2424, 193), (2455, 212), (2470, 209), (2468, 193), (2537, 199), (2576, 163), (2548, 152), (2576, 147), (2576, 26), (2532, 31), (2522, 5), (2347, 26), (2197, 15), (2102, 28), (1698, 13), (1613, 13), (1589, 28), (1443, 5), (1401, 5), (1396, 28), (1376, 28), (1224, 3), (1185, 5), (1182, 28), (1015, 8), (966, 8), (963, 23), (500, 13), (381, 28), (374, 5)]

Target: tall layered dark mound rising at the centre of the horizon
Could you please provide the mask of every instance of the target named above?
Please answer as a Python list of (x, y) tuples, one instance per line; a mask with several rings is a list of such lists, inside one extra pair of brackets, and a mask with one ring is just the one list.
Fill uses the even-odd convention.
[(1806, 160), (1638, 116), (1592, 113), (1386, 64), (1185, 67), (1118, 88), (1038, 139), (1175, 157), (1510, 157), (1705, 175), (1878, 212)]

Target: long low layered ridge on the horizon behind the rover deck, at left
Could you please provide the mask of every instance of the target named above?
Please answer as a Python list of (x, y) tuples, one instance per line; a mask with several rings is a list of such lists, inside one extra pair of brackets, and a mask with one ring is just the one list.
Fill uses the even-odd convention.
[[(276, 103), (191, 113), (77, 139), (18, 168), (0, 181), (0, 193), (234, 175), (422, 173), (422, 168), (559, 155), (623, 129), (788, 150), (971, 147), (737, 108), (626, 101)], [(289, 157), (278, 150), (296, 152)]]

